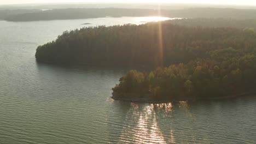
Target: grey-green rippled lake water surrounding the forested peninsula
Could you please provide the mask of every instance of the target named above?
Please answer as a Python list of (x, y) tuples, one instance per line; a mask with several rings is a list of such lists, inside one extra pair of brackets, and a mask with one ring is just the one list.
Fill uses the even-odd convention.
[(113, 101), (111, 88), (127, 70), (35, 61), (38, 45), (82, 23), (154, 19), (0, 21), (0, 143), (255, 143), (255, 97), (176, 104)]

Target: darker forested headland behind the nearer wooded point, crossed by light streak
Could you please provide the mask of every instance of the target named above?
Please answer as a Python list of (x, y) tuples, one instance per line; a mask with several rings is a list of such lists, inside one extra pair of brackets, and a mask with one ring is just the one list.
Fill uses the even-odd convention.
[(144, 25), (98, 26), (63, 32), (38, 46), (38, 62), (121, 66), (162, 66), (207, 58), (210, 51), (232, 47), (252, 52), (253, 31), (202, 28), (152, 22)]

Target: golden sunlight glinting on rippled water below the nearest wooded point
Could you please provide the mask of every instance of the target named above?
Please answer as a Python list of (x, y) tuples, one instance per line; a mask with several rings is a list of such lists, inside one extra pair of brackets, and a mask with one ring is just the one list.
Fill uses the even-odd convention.
[[(127, 112), (127, 125), (123, 127), (120, 143), (176, 143), (174, 131), (170, 130), (170, 137), (164, 137), (161, 127), (158, 125), (157, 113), (172, 112), (173, 105), (168, 104), (131, 104), (131, 109)], [(132, 137), (132, 142), (129, 141)], [(167, 138), (167, 139), (166, 139)], [(168, 141), (168, 142), (167, 142)]]

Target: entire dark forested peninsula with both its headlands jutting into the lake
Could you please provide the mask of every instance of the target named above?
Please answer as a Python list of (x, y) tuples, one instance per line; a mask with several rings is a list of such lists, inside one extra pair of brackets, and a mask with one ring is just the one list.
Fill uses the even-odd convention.
[[(113, 99), (150, 103), (219, 99), (254, 92), (256, 33), (231, 27), (186, 27), (170, 21), (64, 32), (38, 46), (38, 62), (160, 67), (131, 70)], [(170, 66), (171, 65), (171, 66)]]

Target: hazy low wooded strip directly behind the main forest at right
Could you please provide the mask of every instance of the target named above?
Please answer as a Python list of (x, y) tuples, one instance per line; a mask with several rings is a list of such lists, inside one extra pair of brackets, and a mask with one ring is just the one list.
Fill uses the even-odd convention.
[(194, 18), (174, 19), (168, 22), (174, 25), (190, 27), (235, 27), (252, 31), (256, 30), (256, 19)]

